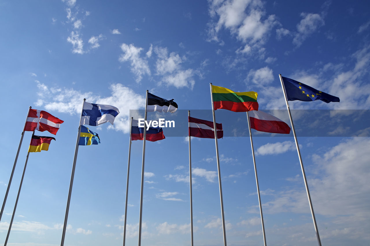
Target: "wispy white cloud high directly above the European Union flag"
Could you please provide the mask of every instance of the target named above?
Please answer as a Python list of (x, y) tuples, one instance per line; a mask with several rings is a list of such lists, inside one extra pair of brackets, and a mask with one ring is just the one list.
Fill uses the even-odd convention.
[(297, 24), (298, 33), (293, 38), (293, 44), (297, 47), (299, 47), (309, 35), (313, 34), (317, 28), (325, 24), (323, 17), (319, 14), (301, 13), (301, 17), (303, 19)]

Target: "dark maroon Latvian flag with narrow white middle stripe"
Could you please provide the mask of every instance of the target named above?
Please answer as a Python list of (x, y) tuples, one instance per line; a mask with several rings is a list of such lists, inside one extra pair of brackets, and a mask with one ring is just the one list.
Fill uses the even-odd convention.
[[(189, 117), (189, 136), (202, 137), (205, 139), (214, 139), (215, 130), (213, 128), (213, 122), (208, 120), (196, 119)], [(222, 124), (216, 123), (217, 138), (223, 137)]]

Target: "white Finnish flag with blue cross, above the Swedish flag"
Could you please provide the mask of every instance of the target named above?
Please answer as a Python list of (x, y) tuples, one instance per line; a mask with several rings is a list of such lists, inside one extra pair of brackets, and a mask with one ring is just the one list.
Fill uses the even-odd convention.
[(120, 113), (117, 107), (111, 105), (84, 102), (80, 125), (98, 126), (110, 122)]

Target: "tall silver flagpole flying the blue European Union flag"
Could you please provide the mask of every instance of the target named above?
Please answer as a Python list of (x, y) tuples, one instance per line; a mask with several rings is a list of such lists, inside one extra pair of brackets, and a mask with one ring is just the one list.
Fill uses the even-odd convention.
[(308, 198), (308, 202), (309, 202), (309, 204), (310, 204), (310, 209), (311, 209), (311, 215), (312, 215), (313, 225), (314, 225), (314, 227), (315, 227), (315, 231), (316, 231), (317, 243), (319, 244), (319, 246), (321, 246), (321, 240), (320, 240), (320, 235), (319, 235), (319, 229), (317, 228), (317, 223), (316, 223), (315, 213), (313, 212), (313, 206), (312, 206), (312, 201), (311, 201), (310, 191), (309, 191), (309, 189), (308, 189), (308, 184), (307, 184), (307, 179), (306, 179), (306, 174), (305, 174), (305, 168), (303, 167), (302, 157), (301, 157), (300, 150), (299, 150), (299, 145), (298, 145), (298, 140), (297, 140), (296, 130), (294, 129), (294, 124), (293, 124), (292, 114), (290, 113), (289, 103), (288, 103), (288, 99), (287, 99), (287, 96), (286, 96), (285, 86), (284, 86), (283, 78), (282, 78), (281, 74), (279, 74), (279, 77), (280, 77), (281, 86), (282, 86), (282, 88), (283, 88), (283, 92), (284, 92), (284, 98), (285, 98), (285, 102), (286, 102), (286, 107), (287, 107), (287, 109), (288, 109), (288, 113), (289, 113), (290, 124), (292, 125), (292, 130), (293, 130), (294, 140), (295, 140), (295, 142), (296, 142), (296, 147), (297, 147), (297, 152), (298, 152), (298, 157), (299, 157), (299, 163), (300, 163), (300, 166), (301, 166), (301, 169), (302, 169), (302, 176), (303, 176), (303, 180), (305, 181), (305, 187), (306, 187), (306, 192), (307, 192), (307, 198)]

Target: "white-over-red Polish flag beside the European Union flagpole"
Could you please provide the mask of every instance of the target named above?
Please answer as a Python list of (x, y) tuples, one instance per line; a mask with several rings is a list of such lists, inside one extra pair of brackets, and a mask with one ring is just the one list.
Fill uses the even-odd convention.
[(256, 110), (249, 111), (248, 114), (250, 127), (257, 131), (284, 134), (290, 133), (288, 124), (273, 115)]

